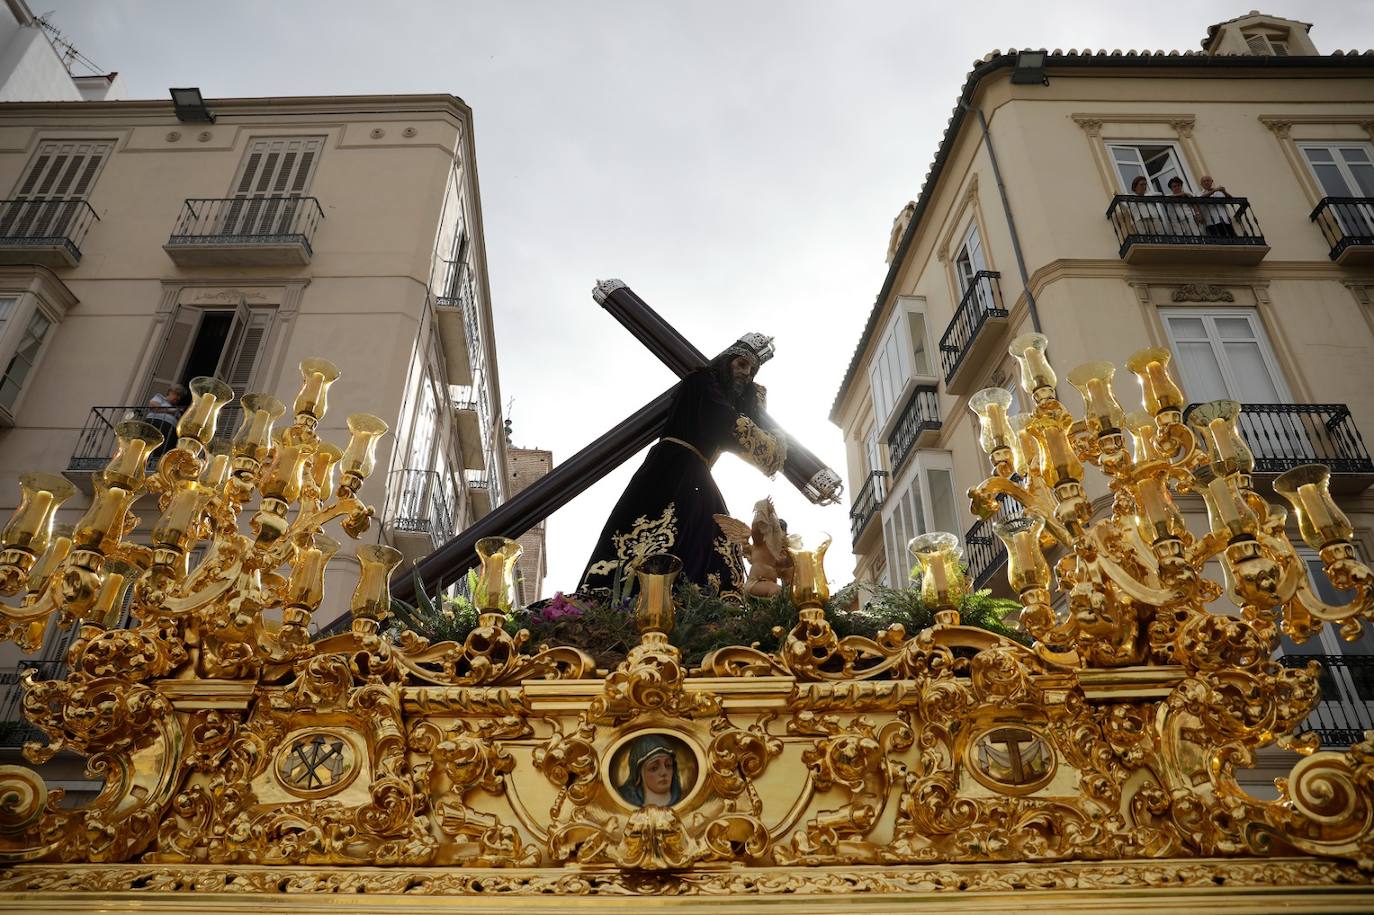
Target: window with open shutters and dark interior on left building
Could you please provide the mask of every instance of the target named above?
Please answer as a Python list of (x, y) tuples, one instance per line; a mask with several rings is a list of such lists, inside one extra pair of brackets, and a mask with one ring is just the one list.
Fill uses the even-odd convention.
[(223, 379), (234, 389), (235, 397), (242, 397), (257, 382), (256, 372), (267, 349), (272, 316), (271, 308), (249, 308), (245, 304), (232, 309), (179, 308), (162, 339), (162, 350), (153, 364), (153, 376), (140, 403), (199, 375)]

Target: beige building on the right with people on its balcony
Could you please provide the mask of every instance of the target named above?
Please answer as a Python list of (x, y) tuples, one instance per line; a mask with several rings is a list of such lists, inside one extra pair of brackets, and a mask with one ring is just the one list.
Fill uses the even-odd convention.
[[(1002, 544), (965, 496), (989, 473), (969, 398), (998, 386), (1013, 411), (1030, 407), (1007, 345), (1036, 330), (1070, 411), (1073, 367), (1169, 348), (1190, 403), (1246, 405), (1261, 490), (1329, 463), (1374, 556), (1374, 55), (1322, 55), (1309, 29), (1250, 14), (1186, 54), (993, 52), (974, 66), (894, 223), (831, 412), (856, 578), (904, 584), (907, 541), (949, 530), (978, 585), (1007, 594)], [(1204, 177), (1224, 188), (1209, 205)], [(1191, 196), (1171, 199), (1173, 179)], [(1116, 390), (1136, 408), (1124, 368)], [(1105, 510), (1105, 486), (1090, 495)], [(1201, 503), (1184, 507), (1205, 530)], [(1374, 639), (1327, 631), (1285, 651), (1327, 661), (1312, 727), (1329, 745), (1374, 727)]]

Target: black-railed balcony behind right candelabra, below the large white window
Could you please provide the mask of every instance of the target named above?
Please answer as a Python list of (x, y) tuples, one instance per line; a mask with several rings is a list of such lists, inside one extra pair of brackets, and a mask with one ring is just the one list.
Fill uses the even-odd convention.
[(1374, 484), (1374, 460), (1345, 404), (1243, 404), (1241, 409), (1238, 426), (1254, 452), (1256, 477), (1316, 463), (1331, 468), (1331, 492), (1358, 493)]

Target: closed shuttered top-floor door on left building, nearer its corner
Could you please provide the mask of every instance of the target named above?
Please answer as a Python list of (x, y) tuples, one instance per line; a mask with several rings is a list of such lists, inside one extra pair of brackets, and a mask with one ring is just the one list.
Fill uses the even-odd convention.
[(324, 137), (272, 136), (249, 143), (224, 207), (220, 235), (298, 234), (297, 199), (309, 190)]

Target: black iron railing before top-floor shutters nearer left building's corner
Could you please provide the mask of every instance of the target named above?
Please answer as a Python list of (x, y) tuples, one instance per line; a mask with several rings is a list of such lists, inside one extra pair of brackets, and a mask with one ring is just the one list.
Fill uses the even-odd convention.
[(298, 245), (309, 257), (323, 218), (313, 196), (194, 198), (181, 209), (168, 249)]

